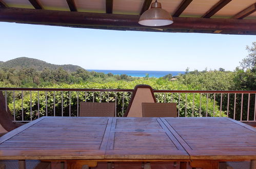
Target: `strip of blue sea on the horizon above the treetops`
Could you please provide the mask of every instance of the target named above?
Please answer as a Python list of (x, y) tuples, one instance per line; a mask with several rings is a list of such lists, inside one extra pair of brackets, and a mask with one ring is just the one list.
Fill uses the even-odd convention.
[(179, 74), (184, 74), (185, 71), (134, 71), (134, 70), (87, 70), (87, 71), (94, 71), (99, 73), (112, 73), (114, 75), (121, 75), (126, 74), (128, 76), (132, 77), (145, 77), (146, 74), (149, 75), (149, 77), (163, 77), (168, 74), (172, 74), (172, 76), (176, 76)]

